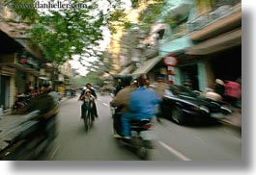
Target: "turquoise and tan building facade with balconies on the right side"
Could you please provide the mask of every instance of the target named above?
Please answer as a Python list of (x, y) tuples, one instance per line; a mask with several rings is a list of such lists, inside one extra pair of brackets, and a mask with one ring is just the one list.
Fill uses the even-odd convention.
[[(146, 59), (128, 73), (164, 74), (172, 84), (189, 81), (193, 89), (201, 91), (213, 88), (215, 79), (241, 77), (241, 1), (168, 2), (150, 33), (157, 41), (158, 55), (145, 57), (152, 47), (144, 47), (141, 58)], [(168, 66), (164, 61), (170, 58), (177, 63)]]

